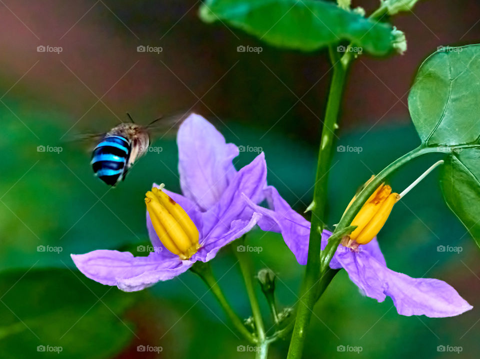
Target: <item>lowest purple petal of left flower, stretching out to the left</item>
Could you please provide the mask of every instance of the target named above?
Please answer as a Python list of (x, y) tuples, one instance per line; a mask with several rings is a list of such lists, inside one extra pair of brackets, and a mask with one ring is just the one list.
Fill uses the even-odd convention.
[(76, 267), (86, 277), (125, 292), (134, 292), (166, 281), (185, 272), (193, 264), (178, 256), (170, 260), (150, 253), (148, 257), (133, 257), (129, 252), (97, 250), (72, 254)]

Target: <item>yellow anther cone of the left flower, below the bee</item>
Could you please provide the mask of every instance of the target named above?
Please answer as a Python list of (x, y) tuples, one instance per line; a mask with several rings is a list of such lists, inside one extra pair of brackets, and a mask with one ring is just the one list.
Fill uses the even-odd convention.
[(183, 208), (162, 191), (163, 187), (153, 187), (145, 194), (146, 210), (165, 248), (181, 260), (189, 259), (200, 248), (198, 230)]

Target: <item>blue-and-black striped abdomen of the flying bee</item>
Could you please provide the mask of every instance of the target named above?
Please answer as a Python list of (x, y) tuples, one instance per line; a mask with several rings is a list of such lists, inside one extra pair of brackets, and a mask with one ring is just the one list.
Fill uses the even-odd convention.
[(95, 147), (91, 165), (95, 175), (108, 185), (123, 179), (130, 156), (130, 142), (122, 136), (106, 136)]

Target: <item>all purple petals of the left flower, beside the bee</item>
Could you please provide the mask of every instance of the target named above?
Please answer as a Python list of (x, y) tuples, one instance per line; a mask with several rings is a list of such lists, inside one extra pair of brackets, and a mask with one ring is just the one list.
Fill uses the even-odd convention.
[[(193, 222), (191, 227), (198, 231), (195, 243), (199, 248), (195, 246), (193, 254), (182, 256), (188, 259), (180, 259), (160, 241), (147, 212), (147, 229), (154, 252), (146, 257), (112, 250), (71, 255), (86, 277), (126, 292), (144, 289), (178, 276), (196, 261), (211, 260), (221, 247), (248, 232), (261, 217), (247, 206), (245, 199), (256, 204), (264, 198), (266, 163), (263, 153), (236, 171), (232, 159), (238, 155), (237, 147), (225, 143), (213, 125), (196, 114), (180, 125), (177, 144), (183, 195), (163, 192), (174, 205), (181, 207), (183, 216), (186, 212)], [(154, 187), (161, 190), (155, 184)]]

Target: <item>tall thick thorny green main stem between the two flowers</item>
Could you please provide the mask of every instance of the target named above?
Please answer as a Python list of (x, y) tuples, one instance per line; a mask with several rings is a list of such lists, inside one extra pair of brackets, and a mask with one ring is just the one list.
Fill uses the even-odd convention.
[(300, 294), (301, 300), (298, 304), (295, 326), (293, 328), (290, 348), (288, 349), (288, 359), (301, 358), (306, 329), (310, 322), (313, 305), (317, 300), (318, 274), (320, 272), (321, 234), (324, 228), (322, 219), (325, 214), (328, 171), (330, 169), (331, 149), (334, 140), (333, 132), (337, 127), (336, 121), (340, 108), (345, 76), (351, 60), (351, 57), (348, 57), (346, 61), (338, 61), (336, 54), (331, 47), (329, 53), (330, 59), (333, 63), (333, 77), (331, 80), (328, 101), (326, 104), (325, 119), (321, 131), (313, 202), (309, 207), (311, 208), (312, 215), (308, 245), (308, 260)]

